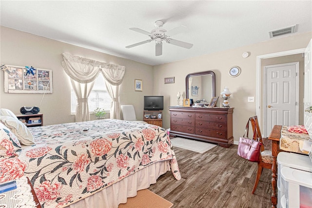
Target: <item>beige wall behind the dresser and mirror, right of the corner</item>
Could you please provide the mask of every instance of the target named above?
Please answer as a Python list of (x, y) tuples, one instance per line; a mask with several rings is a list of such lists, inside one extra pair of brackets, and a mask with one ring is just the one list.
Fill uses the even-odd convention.
[[(163, 126), (170, 127), (169, 108), (176, 105), (178, 91), (185, 92), (185, 77), (189, 73), (212, 70), (216, 76), (216, 96), (227, 86), (233, 93), (230, 106), (234, 107), (233, 129), (234, 141), (242, 136), (249, 117), (256, 114), (256, 58), (257, 56), (280, 51), (305, 48), (312, 33), (292, 35), (286, 38), (273, 39), (253, 45), (216, 52), (179, 62), (154, 66), (154, 94), (164, 95)], [(184, 49), (181, 49), (184, 50)], [(242, 58), (243, 52), (250, 52), (248, 58)], [(239, 66), (241, 74), (232, 78), (228, 72), (231, 66)], [(164, 84), (165, 77), (175, 77), (175, 83)], [(254, 103), (248, 103), (247, 98), (254, 97)], [(217, 106), (222, 99), (219, 98)]]

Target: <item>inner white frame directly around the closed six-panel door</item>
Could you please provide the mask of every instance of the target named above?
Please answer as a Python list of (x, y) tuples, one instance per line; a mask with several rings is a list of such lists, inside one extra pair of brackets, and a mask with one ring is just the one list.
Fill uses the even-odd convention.
[[(295, 73), (296, 73), (296, 77), (295, 77), (295, 86), (296, 86), (296, 93), (295, 93), (295, 112), (294, 112), (294, 115), (295, 115), (295, 125), (298, 125), (299, 124), (299, 62), (289, 62), (289, 63), (280, 63), (280, 64), (273, 64), (273, 65), (268, 65), (268, 66), (264, 66), (264, 71), (263, 71), (263, 92), (266, 92), (267, 90), (267, 78), (266, 78), (266, 75), (267, 75), (267, 70), (269, 67), (272, 67), (272, 66), (282, 66), (282, 65), (295, 65)], [(262, 109), (263, 109), (263, 134), (268, 137), (268, 132), (267, 132), (267, 126), (265, 126), (264, 122), (267, 121), (267, 118), (265, 118), (265, 116), (267, 116), (267, 105), (268, 105), (268, 101), (267, 101), (267, 96), (263, 94), (263, 106), (262, 106)]]

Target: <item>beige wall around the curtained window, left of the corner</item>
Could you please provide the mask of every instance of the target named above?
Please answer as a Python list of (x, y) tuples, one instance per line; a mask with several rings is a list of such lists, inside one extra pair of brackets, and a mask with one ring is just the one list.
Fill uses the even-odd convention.
[[(143, 96), (153, 94), (153, 84), (148, 84), (153, 83), (153, 66), (2, 26), (0, 29), (1, 63), (17, 66), (32, 65), (35, 68), (53, 70), (53, 94), (45, 94), (40, 106), (40, 113), (44, 114), (44, 125), (75, 121), (75, 116), (70, 113), (70, 80), (61, 67), (61, 54), (64, 52), (126, 66), (124, 80), (120, 87), (120, 104), (134, 104), (137, 118), (143, 118)], [(21, 106), (38, 106), (40, 104), (43, 94), (4, 93), (3, 73), (1, 70), (1, 108), (8, 108), (14, 113), (20, 114)], [(135, 79), (143, 80), (143, 92), (135, 91)]]

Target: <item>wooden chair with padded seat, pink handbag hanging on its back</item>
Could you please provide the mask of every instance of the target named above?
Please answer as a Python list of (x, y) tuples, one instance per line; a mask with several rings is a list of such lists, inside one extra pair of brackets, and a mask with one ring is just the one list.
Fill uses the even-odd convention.
[[(251, 121), (251, 124), (253, 127), (253, 131), (254, 131), (254, 128), (257, 128), (257, 137), (259, 138), (259, 141), (263, 144), (260, 126), (258, 123), (258, 117), (257, 116), (251, 117), (250, 121)], [(254, 138), (254, 139), (256, 139), (256, 138)], [(257, 170), (256, 179), (254, 182), (254, 188), (252, 191), (253, 194), (254, 194), (255, 189), (258, 186), (263, 168), (272, 169), (272, 164), (273, 164), (272, 150), (265, 150), (264, 145), (262, 145), (261, 146), (261, 154), (259, 155), (259, 159), (258, 159), (257, 163), (258, 163), (258, 170)]]

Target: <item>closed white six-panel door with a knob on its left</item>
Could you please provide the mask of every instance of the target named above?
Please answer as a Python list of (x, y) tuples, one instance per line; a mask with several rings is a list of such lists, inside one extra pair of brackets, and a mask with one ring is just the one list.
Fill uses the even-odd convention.
[(266, 132), (274, 125), (297, 125), (299, 62), (265, 66)]

